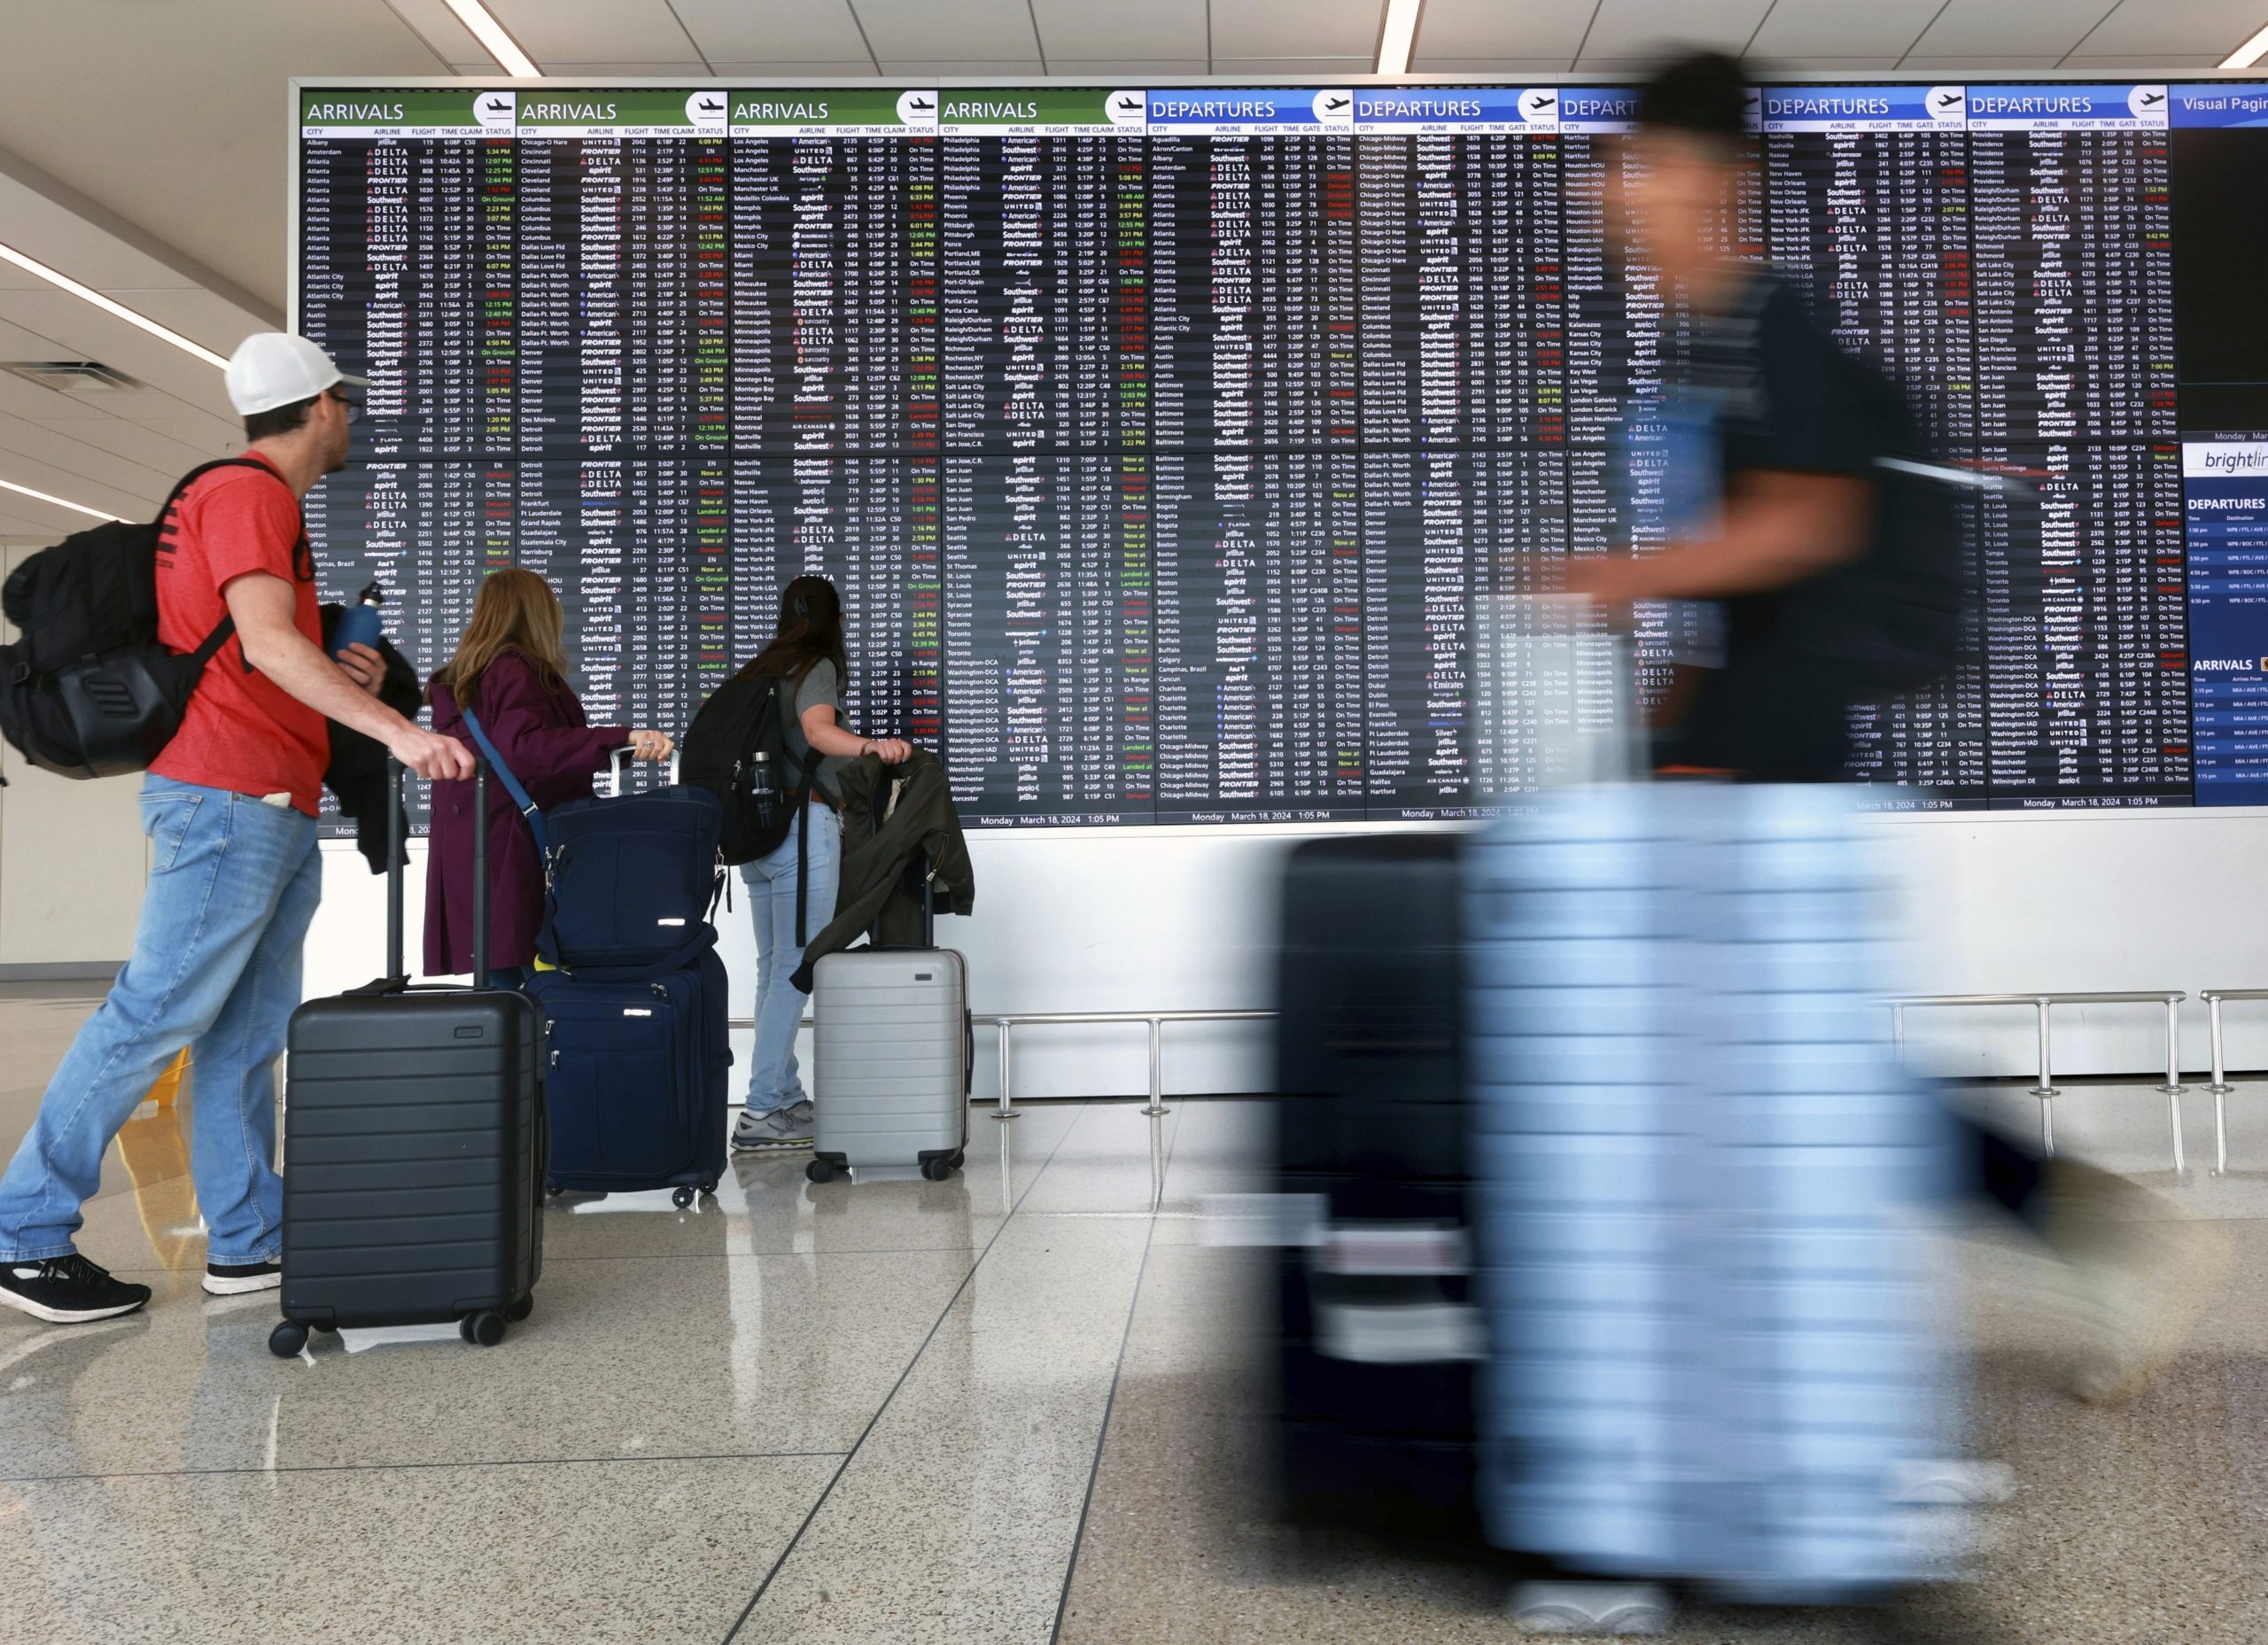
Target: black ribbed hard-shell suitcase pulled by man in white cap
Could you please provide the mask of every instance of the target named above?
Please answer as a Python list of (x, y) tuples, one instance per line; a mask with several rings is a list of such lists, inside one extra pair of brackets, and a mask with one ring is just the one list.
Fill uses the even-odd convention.
[[(388, 762), (399, 785), (399, 769)], [(474, 783), (488, 815), (488, 769)], [(386, 874), (386, 976), (293, 1012), (284, 1112), (281, 1357), (308, 1327), (458, 1321), (492, 1345), (542, 1275), (540, 1019), (488, 976), (488, 830), (474, 830), (474, 987), (411, 987), (401, 812)]]

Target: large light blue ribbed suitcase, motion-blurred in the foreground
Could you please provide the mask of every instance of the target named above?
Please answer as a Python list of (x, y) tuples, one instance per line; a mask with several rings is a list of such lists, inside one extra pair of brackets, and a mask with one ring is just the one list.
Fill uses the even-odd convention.
[(1542, 796), (1472, 851), (1472, 1146), (1501, 1547), (1839, 1600), (1926, 1575), (1946, 1452), (1885, 1048), (1882, 876), (1835, 787)]

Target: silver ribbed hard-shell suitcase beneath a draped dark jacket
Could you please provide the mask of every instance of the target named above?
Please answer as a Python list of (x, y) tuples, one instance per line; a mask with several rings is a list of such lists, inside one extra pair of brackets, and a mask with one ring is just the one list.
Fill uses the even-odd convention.
[(968, 1144), (968, 967), (953, 948), (855, 948), (812, 969), (816, 1134), (805, 1175), (921, 1166), (943, 1182)]

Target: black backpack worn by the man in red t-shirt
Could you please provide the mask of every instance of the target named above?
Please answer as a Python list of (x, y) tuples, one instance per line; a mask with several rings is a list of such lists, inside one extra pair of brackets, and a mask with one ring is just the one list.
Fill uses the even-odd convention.
[(236, 619), (222, 617), (186, 656), (159, 644), (156, 551), (181, 492), (215, 467), (277, 476), (247, 456), (193, 467), (152, 524), (113, 520), (73, 533), (0, 588), (0, 610), (23, 635), (0, 647), (0, 735), (41, 771), (143, 771), (181, 728), (204, 665), (236, 633)]

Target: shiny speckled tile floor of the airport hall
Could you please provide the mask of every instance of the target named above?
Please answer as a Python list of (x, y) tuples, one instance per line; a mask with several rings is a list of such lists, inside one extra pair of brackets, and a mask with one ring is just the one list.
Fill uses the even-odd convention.
[[(0, 1003), (0, 1146), (84, 1012)], [(2227, 1218), (2239, 1248), (2191, 1352), (2127, 1409), (2053, 1393), (2030, 1262), (1960, 1243), (1975, 1448), (2019, 1473), (1955, 1595), (1971, 1636), (2268, 1638), (2263, 1098), (2232, 1100), (2254, 1169), (2186, 1184), (2161, 1098), (2064, 1098), (2068, 1148)], [(1259, 1103), (978, 1110), (943, 1184), (814, 1189), (767, 1159), (694, 1212), (572, 1198), (501, 1348), (277, 1361), (272, 1296), (195, 1284), (193, 1100), (129, 1125), (82, 1234), (156, 1302), (0, 1316), (5, 1645), (1508, 1636), (1486, 1568), (1270, 1522), (1270, 1257), (1202, 1243), (1207, 1196), (1256, 1187)], [(1721, 1616), (1674, 1638), (1862, 1636)]]

